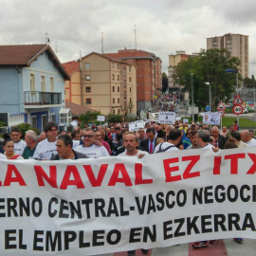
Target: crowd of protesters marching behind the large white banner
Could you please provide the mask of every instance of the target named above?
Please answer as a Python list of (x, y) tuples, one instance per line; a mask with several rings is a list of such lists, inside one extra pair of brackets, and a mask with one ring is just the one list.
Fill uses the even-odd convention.
[[(0, 144), (0, 159), (61, 160), (78, 158), (99, 158), (109, 155), (132, 156), (158, 154), (178, 150), (212, 149), (213, 151), (256, 147), (253, 130), (239, 132), (237, 122), (220, 131), (217, 126), (202, 123), (188, 124), (181, 120), (174, 125), (146, 122), (145, 127), (129, 132), (129, 123), (112, 122), (108, 126), (75, 128), (72, 133), (58, 133), (58, 125), (48, 122), (45, 131), (36, 135), (28, 130), (25, 140), (18, 127), (12, 127)], [(234, 239), (242, 243), (242, 238)], [(199, 241), (194, 248), (207, 247), (214, 241)], [(143, 250), (146, 254), (148, 250)], [(128, 255), (135, 255), (129, 251)]]

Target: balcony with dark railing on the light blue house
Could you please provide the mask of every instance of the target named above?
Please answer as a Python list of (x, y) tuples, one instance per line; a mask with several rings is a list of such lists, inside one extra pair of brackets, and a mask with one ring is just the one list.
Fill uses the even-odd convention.
[(24, 92), (25, 105), (60, 105), (62, 104), (62, 93), (52, 92)]

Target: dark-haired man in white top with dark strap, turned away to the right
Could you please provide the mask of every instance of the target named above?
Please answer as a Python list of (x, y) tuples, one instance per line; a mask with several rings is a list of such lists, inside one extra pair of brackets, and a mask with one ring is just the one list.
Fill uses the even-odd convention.
[(155, 147), (154, 154), (160, 152), (169, 152), (169, 151), (176, 151), (179, 150), (176, 145), (180, 142), (181, 139), (181, 132), (178, 129), (172, 129), (169, 132), (168, 141), (158, 144)]

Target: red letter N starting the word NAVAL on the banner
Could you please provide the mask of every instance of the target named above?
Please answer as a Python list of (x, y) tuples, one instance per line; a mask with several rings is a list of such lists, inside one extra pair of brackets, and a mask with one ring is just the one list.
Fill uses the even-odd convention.
[[(45, 181), (52, 187), (57, 189), (57, 169), (56, 166), (49, 166), (49, 176), (46, 174), (42, 166), (35, 166), (37, 182), (40, 187), (45, 187)], [(44, 179), (43, 179), (44, 178)]]

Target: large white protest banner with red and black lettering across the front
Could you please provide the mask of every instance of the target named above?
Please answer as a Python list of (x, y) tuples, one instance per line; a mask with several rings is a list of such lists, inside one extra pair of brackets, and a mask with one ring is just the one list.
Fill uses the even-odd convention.
[(256, 239), (255, 149), (0, 160), (0, 255)]

